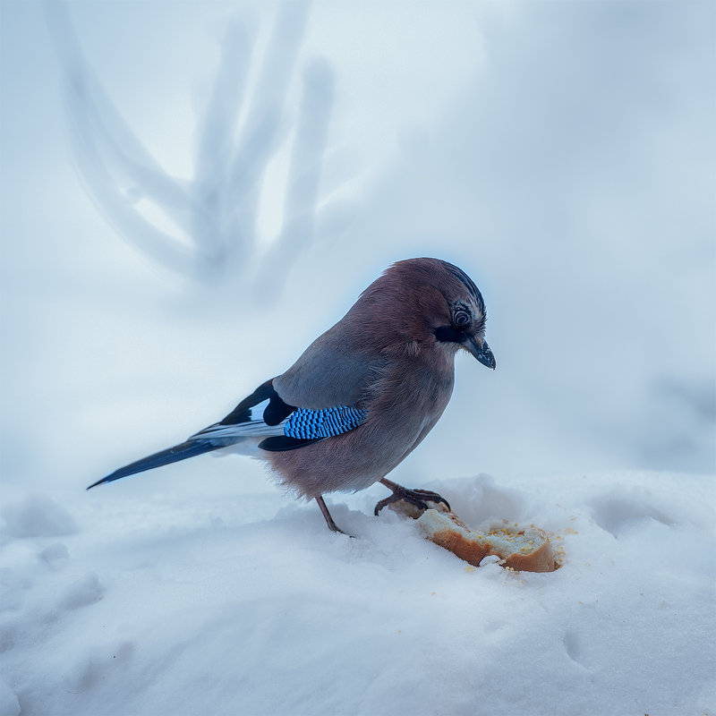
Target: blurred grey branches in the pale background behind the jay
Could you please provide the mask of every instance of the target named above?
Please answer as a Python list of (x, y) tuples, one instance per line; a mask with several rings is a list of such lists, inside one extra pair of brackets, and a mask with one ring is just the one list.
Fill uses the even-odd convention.
[[(150, 259), (212, 283), (227, 276), (245, 277), (251, 268), (254, 277), (270, 273), (276, 286), (299, 252), (311, 246), (334, 101), (334, 74), (327, 60), (303, 63), (293, 133), (285, 126), (286, 98), (300, 66), (309, 6), (307, 0), (278, 5), (248, 104), (255, 33), (238, 21), (227, 25), (200, 119), (193, 175), (183, 180), (166, 172), (126, 124), (82, 55), (67, 7), (47, 2), (63, 72), (72, 153), (86, 190), (117, 233)], [(257, 232), (261, 184), (271, 159), (289, 138), (293, 144), (283, 226), (270, 250), (262, 252)], [(153, 203), (177, 231), (157, 226), (142, 213), (140, 200)]]

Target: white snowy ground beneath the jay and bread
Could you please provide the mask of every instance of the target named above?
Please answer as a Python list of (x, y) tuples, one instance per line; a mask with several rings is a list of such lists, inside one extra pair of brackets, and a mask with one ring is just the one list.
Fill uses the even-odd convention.
[[(213, 462), (194, 461), (197, 478)], [(7, 500), (3, 716), (716, 709), (708, 479), (426, 485), (468, 524), (552, 533), (563, 566), (528, 574), (469, 567), (411, 521), (375, 518), (382, 488), (333, 496), (350, 539), (269, 482), (188, 500), (163, 472), (140, 498), (135, 478)]]

